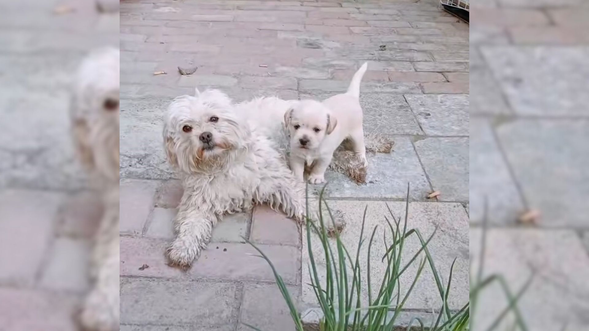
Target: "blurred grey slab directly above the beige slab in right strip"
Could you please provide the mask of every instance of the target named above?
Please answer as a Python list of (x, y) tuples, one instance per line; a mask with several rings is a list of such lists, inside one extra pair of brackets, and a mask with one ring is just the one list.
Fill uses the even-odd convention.
[(496, 130), (528, 207), (542, 213), (539, 224), (586, 227), (589, 121), (515, 120)]

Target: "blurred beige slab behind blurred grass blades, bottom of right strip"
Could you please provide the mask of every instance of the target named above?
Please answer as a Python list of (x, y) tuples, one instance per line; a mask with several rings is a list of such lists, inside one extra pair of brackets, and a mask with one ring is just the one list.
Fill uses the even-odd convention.
[[(471, 266), (478, 270), (482, 231), (472, 229)], [(589, 325), (589, 256), (580, 238), (571, 230), (492, 229), (487, 231), (485, 274), (501, 273), (512, 292), (535, 274), (530, 288), (518, 303), (530, 329), (574, 330)], [(481, 293), (481, 309), (476, 317), (485, 327), (507, 306), (497, 285)], [(484, 313), (483, 313), (484, 312)], [(499, 329), (502, 326), (499, 325)]]

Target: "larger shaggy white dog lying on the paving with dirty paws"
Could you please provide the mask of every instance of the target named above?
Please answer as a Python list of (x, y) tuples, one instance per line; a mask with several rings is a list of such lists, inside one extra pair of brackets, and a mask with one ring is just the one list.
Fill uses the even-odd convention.
[[(172, 264), (189, 267), (223, 214), (255, 203), (268, 203), (289, 217), (304, 219), (305, 184), (287, 166), (277, 144), (280, 139), (270, 137), (282, 131), (282, 114), (289, 105), (277, 98), (234, 105), (217, 90), (197, 90), (194, 97), (183, 95), (171, 102), (164, 148), (170, 164), (184, 177), (174, 219), (176, 238), (167, 250)], [(309, 206), (317, 204), (310, 201)]]

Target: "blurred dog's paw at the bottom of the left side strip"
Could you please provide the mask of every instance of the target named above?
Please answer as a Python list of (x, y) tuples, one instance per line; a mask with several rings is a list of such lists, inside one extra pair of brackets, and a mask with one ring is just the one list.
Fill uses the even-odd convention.
[[(116, 293), (118, 298), (118, 291)], [(108, 293), (94, 289), (84, 303), (78, 316), (80, 327), (85, 331), (117, 331), (119, 329), (119, 302)]]

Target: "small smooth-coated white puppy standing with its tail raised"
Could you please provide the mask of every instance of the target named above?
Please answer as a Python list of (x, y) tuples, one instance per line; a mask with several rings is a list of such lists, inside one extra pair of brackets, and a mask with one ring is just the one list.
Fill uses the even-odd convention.
[(305, 166), (310, 168), (309, 183), (325, 183), (325, 170), (331, 163), (333, 152), (349, 138), (353, 151), (368, 166), (362, 107), (360, 107), (360, 81), (368, 64), (363, 64), (348, 87), (323, 102), (301, 100), (284, 113), (284, 124), (290, 131), (290, 168), (299, 181), (304, 181)]

